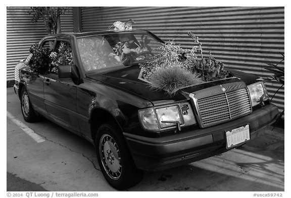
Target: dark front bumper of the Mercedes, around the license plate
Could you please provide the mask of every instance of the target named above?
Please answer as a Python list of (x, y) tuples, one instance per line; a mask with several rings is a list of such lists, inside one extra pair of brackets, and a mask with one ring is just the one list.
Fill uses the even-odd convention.
[(195, 162), (226, 149), (225, 131), (250, 124), (251, 140), (275, 122), (278, 108), (269, 104), (251, 114), (215, 126), (162, 138), (124, 134), (138, 169), (163, 170)]

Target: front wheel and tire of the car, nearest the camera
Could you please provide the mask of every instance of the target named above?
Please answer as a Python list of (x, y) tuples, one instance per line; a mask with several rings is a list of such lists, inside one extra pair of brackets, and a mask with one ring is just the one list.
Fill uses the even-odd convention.
[(123, 190), (139, 183), (143, 171), (135, 167), (117, 124), (107, 122), (101, 125), (95, 145), (101, 171), (112, 187)]

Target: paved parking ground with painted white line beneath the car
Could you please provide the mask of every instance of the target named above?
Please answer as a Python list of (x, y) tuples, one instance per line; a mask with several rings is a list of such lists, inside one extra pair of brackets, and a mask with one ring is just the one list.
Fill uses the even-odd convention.
[[(284, 129), (239, 149), (170, 170), (144, 174), (127, 191), (284, 191)], [(103, 177), (94, 147), (42, 119), (27, 123), (7, 88), (7, 191), (116, 191)]]

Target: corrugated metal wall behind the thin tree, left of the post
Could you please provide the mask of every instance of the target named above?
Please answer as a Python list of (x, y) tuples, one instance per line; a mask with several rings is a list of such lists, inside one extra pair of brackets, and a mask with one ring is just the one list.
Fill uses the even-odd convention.
[[(7, 7), (7, 81), (12, 83), (15, 64), (27, 57), (32, 44), (47, 35), (43, 21), (32, 23), (28, 10), (29, 7)], [(72, 8), (61, 15), (61, 24), (63, 32), (73, 32)]]

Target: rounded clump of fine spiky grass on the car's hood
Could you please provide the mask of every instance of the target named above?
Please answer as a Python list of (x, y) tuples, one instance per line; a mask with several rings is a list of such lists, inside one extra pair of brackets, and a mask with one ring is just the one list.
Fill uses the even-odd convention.
[(199, 75), (181, 68), (179, 64), (161, 67), (150, 77), (150, 87), (156, 91), (166, 91), (170, 96), (186, 86), (197, 85), (204, 81)]

